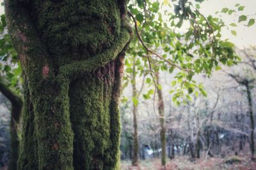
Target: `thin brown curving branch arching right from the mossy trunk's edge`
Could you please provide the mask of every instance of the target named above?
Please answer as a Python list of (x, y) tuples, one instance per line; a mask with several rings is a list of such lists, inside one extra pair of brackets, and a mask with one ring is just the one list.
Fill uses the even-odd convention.
[(137, 34), (137, 36), (138, 36), (138, 38), (139, 38), (141, 44), (142, 44), (142, 45), (144, 46), (144, 48), (147, 50), (147, 52), (150, 52), (150, 53), (156, 55), (156, 57), (158, 57), (158, 58), (161, 59), (161, 60), (164, 60), (165, 62), (167, 62), (167, 63), (170, 64), (171, 66), (177, 67), (177, 68), (179, 68), (179, 69), (181, 69), (181, 70), (183, 70), (183, 71), (191, 71), (191, 70), (189, 70), (189, 69), (184, 69), (184, 68), (178, 66), (177, 64), (174, 64), (174, 63), (171, 62), (170, 60), (164, 59), (164, 57), (162, 57), (162, 56), (159, 55), (158, 53), (156, 53), (156, 52), (154, 52), (153, 50), (151, 50), (150, 48), (148, 48), (148, 46), (145, 45), (143, 39), (142, 39), (141, 36), (140, 36), (140, 32), (139, 32), (139, 30), (138, 30), (138, 25), (137, 25), (136, 18), (132, 15), (132, 13), (131, 13), (130, 11), (127, 11), (127, 13), (128, 13), (128, 15), (132, 18), (132, 20), (134, 21), (136, 34)]

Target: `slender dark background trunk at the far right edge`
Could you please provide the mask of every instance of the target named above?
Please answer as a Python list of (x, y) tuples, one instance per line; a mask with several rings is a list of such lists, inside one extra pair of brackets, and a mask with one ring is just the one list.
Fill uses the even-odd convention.
[(254, 153), (255, 153), (255, 144), (254, 144), (254, 118), (253, 118), (253, 110), (252, 110), (252, 94), (250, 87), (248, 83), (245, 84), (246, 87), (246, 94), (247, 94), (247, 99), (248, 99), (248, 106), (249, 106), (249, 113), (250, 113), (250, 120), (251, 120), (251, 143), (250, 143), (250, 148), (251, 148), (251, 153), (252, 153), (252, 159), (254, 159)]

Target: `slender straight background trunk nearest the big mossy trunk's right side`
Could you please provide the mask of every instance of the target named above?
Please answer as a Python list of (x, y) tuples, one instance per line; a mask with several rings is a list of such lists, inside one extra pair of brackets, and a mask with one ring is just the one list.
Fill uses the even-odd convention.
[[(137, 89), (136, 89), (136, 69), (135, 69), (135, 59), (132, 67), (132, 98), (137, 99)], [(132, 154), (132, 166), (138, 166), (138, 125), (137, 125), (137, 115), (138, 115), (138, 103), (135, 101), (132, 103), (132, 114), (133, 114), (133, 154)]]

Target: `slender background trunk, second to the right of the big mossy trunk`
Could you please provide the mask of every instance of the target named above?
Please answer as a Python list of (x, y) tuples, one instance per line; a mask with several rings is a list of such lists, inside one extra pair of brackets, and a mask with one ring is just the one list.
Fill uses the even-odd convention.
[[(156, 83), (157, 85), (161, 85), (159, 73), (156, 73)], [(166, 164), (166, 138), (165, 138), (165, 120), (164, 120), (164, 99), (163, 99), (163, 92), (161, 89), (157, 87), (157, 95), (158, 95), (158, 112), (159, 112), (159, 120), (160, 120), (160, 138), (161, 138), (161, 148), (162, 148), (162, 155), (161, 155), (161, 164), (165, 166)]]

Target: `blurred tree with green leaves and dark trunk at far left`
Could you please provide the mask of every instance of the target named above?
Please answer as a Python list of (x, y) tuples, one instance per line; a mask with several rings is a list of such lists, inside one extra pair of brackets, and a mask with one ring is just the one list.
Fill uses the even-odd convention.
[(21, 68), (17, 53), (15, 52), (10, 36), (6, 32), (5, 16), (1, 15), (0, 22), (0, 92), (11, 103), (10, 120), (10, 161), (9, 169), (17, 169), (17, 160), (19, 157), (19, 128), (20, 115), (22, 110), (22, 97), (20, 94), (20, 73)]

